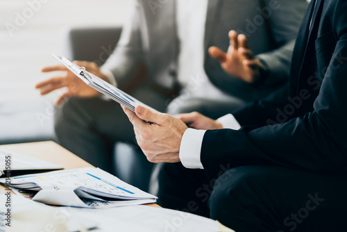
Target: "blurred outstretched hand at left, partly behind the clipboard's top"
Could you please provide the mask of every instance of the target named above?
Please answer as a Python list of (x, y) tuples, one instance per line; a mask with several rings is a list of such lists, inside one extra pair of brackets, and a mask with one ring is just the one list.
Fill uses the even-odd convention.
[[(100, 78), (106, 80), (104, 74), (101, 73), (101, 70), (96, 63), (91, 63), (87, 61), (75, 61), (76, 65), (85, 67), (85, 69)], [(78, 76), (73, 74), (63, 65), (56, 65), (51, 67), (44, 67), (42, 72), (54, 72), (54, 71), (65, 71), (65, 74), (62, 76), (55, 76), (49, 78), (46, 81), (42, 81), (35, 85), (35, 88), (40, 89), (42, 95), (48, 94), (53, 90), (58, 90), (60, 88), (67, 88), (67, 91), (58, 97), (56, 100), (56, 105), (60, 105), (64, 99), (71, 96), (76, 97), (95, 97), (99, 95), (99, 92), (85, 84)]]

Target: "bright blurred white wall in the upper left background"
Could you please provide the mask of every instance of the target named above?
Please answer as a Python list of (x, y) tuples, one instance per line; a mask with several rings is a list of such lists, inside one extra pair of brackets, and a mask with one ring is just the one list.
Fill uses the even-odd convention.
[(40, 68), (56, 64), (51, 53), (62, 52), (64, 28), (121, 25), (131, 1), (0, 0), (0, 103), (39, 97), (35, 83), (51, 76)]

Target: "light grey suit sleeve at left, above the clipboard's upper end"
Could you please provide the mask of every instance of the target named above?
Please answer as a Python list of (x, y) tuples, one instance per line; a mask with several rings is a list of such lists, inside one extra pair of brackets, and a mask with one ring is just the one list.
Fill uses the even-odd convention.
[(124, 88), (131, 81), (130, 77), (135, 75), (142, 60), (142, 43), (140, 34), (140, 17), (142, 2), (134, 1), (128, 20), (121, 31), (121, 38), (110, 55), (108, 60), (102, 66), (102, 69), (108, 69), (115, 76), (115, 81), (119, 88)]

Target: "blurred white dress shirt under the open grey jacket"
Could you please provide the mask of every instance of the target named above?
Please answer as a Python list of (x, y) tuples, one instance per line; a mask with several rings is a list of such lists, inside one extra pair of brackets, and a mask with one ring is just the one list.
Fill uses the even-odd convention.
[[(176, 25), (180, 41), (178, 82), (183, 86), (182, 93), (185, 94), (174, 99), (172, 105), (181, 105), (180, 101), (187, 99), (187, 95), (205, 99), (208, 94), (209, 99), (230, 99), (228, 94), (211, 83), (205, 72), (204, 58), (207, 48), (204, 42), (207, 15), (208, 0), (176, 0)], [(169, 111), (172, 105), (168, 106)]]

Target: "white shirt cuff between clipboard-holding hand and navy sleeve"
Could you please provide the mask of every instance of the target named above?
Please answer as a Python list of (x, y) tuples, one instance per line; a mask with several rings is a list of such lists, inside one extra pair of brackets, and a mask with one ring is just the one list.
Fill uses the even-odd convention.
[(180, 162), (190, 169), (203, 169), (200, 154), (203, 145), (204, 130), (187, 129), (180, 142)]

